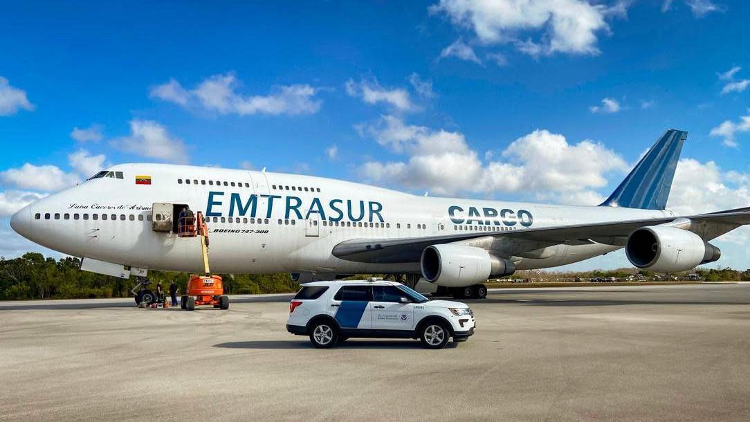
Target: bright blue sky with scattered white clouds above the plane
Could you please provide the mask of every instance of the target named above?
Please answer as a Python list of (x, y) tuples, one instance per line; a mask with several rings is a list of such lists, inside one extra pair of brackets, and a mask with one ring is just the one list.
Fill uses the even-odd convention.
[[(724, 0), (5, 5), (0, 254), (38, 250), (14, 209), (130, 161), (593, 204), (676, 127), (670, 208), (747, 206), (748, 17)], [(721, 263), (744, 268), (747, 244), (721, 241)]]

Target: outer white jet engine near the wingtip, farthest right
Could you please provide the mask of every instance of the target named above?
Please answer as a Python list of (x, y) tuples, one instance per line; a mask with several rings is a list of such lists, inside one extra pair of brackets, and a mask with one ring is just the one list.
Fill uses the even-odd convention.
[(699, 235), (664, 226), (641, 227), (632, 232), (625, 254), (637, 268), (661, 273), (686, 271), (721, 258), (721, 250)]

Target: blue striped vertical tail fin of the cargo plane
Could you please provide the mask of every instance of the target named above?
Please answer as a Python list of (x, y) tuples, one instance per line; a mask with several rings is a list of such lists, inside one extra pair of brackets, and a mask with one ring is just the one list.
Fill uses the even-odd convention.
[(667, 206), (674, 170), (688, 133), (667, 129), (628, 177), (602, 202), (602, 207), (663, 210)]

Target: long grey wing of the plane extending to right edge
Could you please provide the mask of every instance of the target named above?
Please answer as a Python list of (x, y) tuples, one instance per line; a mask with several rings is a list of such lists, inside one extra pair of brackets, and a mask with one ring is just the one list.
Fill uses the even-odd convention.
[[(555, 244), (599, 243), (625, 246), (628, 235), (635, 229), (664, 223), (679, 223), (680, 221), (689, 223), (688, 230), (709, 241), (739, 226), (750, 224), (750, 208), (685, 217), (574, 224), (538, 229), (520, 229), (512, 232), (470, 232), (420, 238), (352, 239), (336, 245), (332, 253), (334, 256), (347, 261), (390, 264), (419, 262), (425, 247), (433, 244), (449, 244), (481, 238), (512, 244), (514, 253), (523, 253)], [(508, 258), (508, 256), (505, 256), (505, 258)]]

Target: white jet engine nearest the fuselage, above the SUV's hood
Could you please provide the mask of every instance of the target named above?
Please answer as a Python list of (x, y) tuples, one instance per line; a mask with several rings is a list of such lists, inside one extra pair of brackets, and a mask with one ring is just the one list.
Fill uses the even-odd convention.
[(437, 286), (463, 287), (484, 283), (490, 276), (513, 274), (515, 265), (481, 247), (437, 244), (422, 251), (422, 277)]

